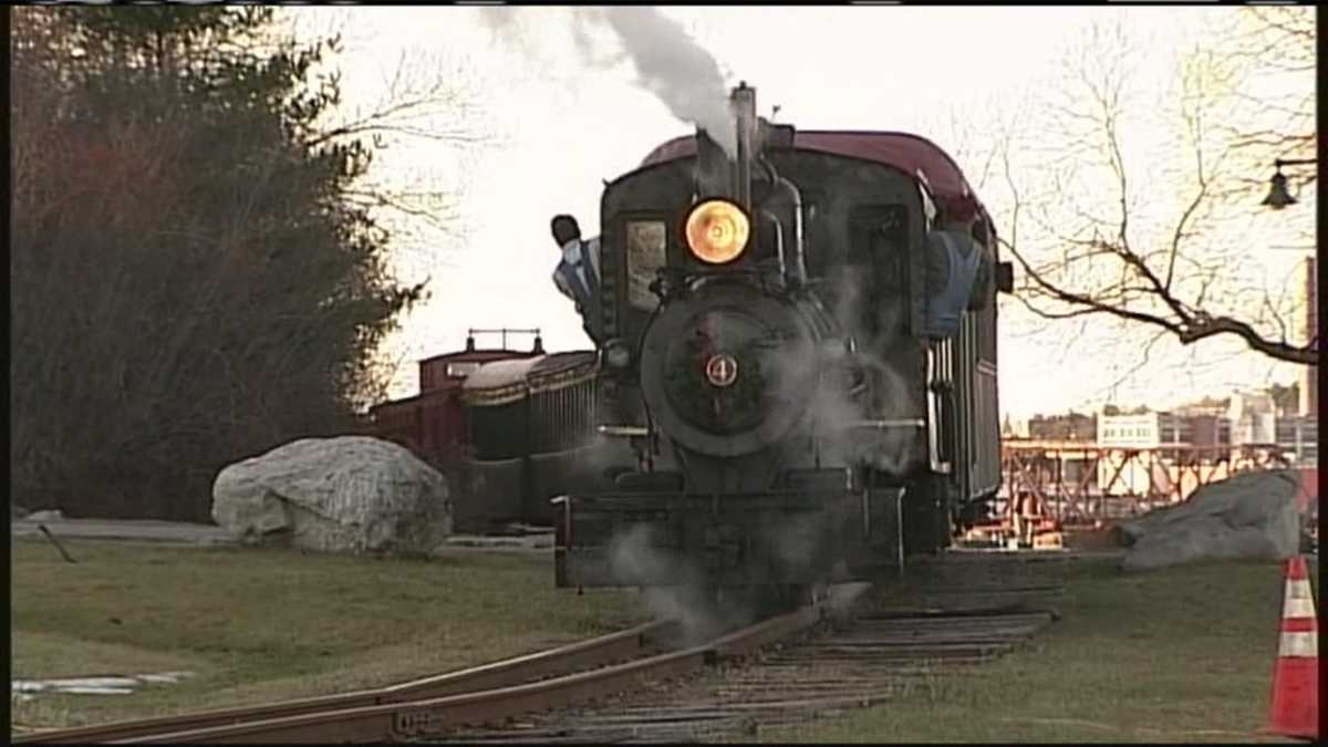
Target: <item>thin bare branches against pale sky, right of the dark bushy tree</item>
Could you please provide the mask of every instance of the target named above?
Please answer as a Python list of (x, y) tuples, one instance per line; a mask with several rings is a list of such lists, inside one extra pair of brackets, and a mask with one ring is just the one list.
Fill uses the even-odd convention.
[[(433, 287), (438, 278), (440, 243), (463, 238), (459, 209), (462, 182), (479, 160), (503, 145), (481, 104), (481, 81), (466, 60), (445, 48), (402, 47), (396, 56), (381, 52), (384, 36), (364, 27), (363, 8), (283, 8), (276, 29), (286, 36), (337, 39), (345, 68), (356, 60), (355, 81), (327, 74), (341, 84), (339, 105), (305, 133), (309, 144), (360, 141), (373, 146), (373, 162), (344, 199), (365, 210), (388, 229), (393, 241), (393, 270), (412, 282)], [(373, 15), (377, 16), (377, 15)], [(311, 81), (313, 82), (313, 81)], [(422, 247), (421, 257), (409, 247)], [(388, 399), (392, 383), (413, 366), (398, 339), (385, 340), (355, 392), (359, 411)]]

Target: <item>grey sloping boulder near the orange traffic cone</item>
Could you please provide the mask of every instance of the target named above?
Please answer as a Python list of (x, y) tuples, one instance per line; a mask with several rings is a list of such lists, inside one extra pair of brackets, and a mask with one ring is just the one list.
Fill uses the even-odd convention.
[(1246, 472), (1211, 482), (1175, 506), (1121, 524), (1125, 570), (1197, 560), (1284, 560), (1300, 549), (1299, 476)]

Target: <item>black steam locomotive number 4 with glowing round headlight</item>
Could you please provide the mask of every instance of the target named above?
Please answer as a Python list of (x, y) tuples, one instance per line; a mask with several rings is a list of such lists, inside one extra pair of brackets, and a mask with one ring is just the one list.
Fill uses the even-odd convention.
[[(554, 500), (558, 586), (810, 589), (935, 553), (1000, 486), (991, 217), (930, 141), (797, 132), (732, 92), (606, 185), (596, 492)], [(991, 280), (938, 339), (924, 251), (976, 210)], [(944, 272), (944, 268), (942, 270)]]

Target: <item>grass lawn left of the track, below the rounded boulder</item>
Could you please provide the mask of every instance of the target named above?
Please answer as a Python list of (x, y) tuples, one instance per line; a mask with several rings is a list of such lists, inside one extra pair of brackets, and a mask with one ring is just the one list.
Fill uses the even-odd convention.
[(373, 560), (276, 549), (13, 540), (16, 679), (187, 670), (133, 695), (11, 700), (74, 726), (382, 686), (579, 641), (647, 617), (631, 591), (554, 589), (546, 556)]

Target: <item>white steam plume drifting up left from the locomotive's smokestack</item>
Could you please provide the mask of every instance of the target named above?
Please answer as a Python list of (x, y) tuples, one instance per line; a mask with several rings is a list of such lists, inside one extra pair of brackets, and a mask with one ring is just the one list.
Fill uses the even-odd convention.
[[(493, 31), (507, 33), (515, 29), (513, 20), (517, 11), (479, 11)], [(570, 23), (566, 31), (586, 65), (608, 69), (623, 57), (631, 60), (636, 69), (636, 82), (641, 88), (653, 93), (675, 117), (709, 133), (729, 158), (734, 157), (737, 125), (720, 65), (687, 33), (683, 24), (648, 5), (571, 7), (567, 11)], [(596, 49), (603, 35), (596, 37), (594, 31), (610, 32), (622, 48), (622, 54), (606, 54)], [(554, 32), (542, 29), (542, 35)]]

